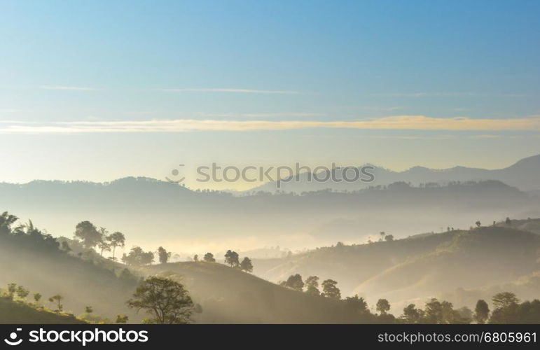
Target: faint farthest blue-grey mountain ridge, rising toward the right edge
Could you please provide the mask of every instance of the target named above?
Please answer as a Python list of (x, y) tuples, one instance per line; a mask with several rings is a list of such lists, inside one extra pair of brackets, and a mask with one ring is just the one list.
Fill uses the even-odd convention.
[[(364, 165), (366, 166), (366, 165)], [(479, 169), (470, 167), (452, 167), (449, 169), (429, 169), (427, 167), (412, 167), (403, 172), (394, 172), (384, 167), (368, 165), (373, 167), (371, 174), (375, 176), (375, 181), (363, 183), (361, 181), (350, 182), (316, 182), (308, 181), (309, 174), (297, 174), (293, 179), (288, 178), (279, 183), (277, 188), (276, 182), (265, 183), (254, 188), (258, 191), (274, 192), (275, 190), (283, 190), (285, 192), (302, 193), (313, 190), (322, 190), (324, 188), (332, 188), (334, 190), (359, 190), (368, 186), (388, 185), (389, 183), (404, 181), (418, 186), (421, 183), (448, 183), (452, 181), (486, 181), (497, 180), (506, 183), (509, 186), (519, 188), (524, 191), (540, 190), (540, 154), (532, 157), (523, 158), (514, 165), (503, 169)], [(359, 167), (360, 169), (361, 167)], [(341, 169), (333, 169), (335, 179), (343, 179)], [(349, 170), (350, 172), (350, 170)], [(323, 179), (325, 173), (319, 174), (319, 178)], [(326, 172), (328, 174), (328, 172)], [(349, 178), (352, 174), (347, 173)]]

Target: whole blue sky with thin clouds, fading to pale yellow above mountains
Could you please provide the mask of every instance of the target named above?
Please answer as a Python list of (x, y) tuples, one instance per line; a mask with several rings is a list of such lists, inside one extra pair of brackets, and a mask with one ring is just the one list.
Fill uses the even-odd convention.
[(0, 1), (0, 14), (13, 164), (0, 181), (540, 153), (538, 1)]

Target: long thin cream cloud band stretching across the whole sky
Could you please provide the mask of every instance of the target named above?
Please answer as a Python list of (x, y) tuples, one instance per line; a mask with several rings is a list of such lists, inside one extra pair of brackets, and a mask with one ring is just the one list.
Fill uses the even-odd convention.
[(540, 116), (511, 119), (433, 118), (389, 116), (371, 120), (128, 120), (12, 123), (0, 126), (0, 133), (111, 133), (111, 132), (196, 132), (254, 130), (298, 130), (309, 128), (359, 130), (447, 130), (447, 131), (540, 131)]

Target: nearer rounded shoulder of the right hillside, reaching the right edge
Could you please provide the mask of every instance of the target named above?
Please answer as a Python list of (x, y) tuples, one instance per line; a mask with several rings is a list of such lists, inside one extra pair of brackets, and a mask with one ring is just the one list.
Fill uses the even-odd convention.
[(359, 284), (356, 291), (414, 298), (457, 287), (504, 283), (538, 269), (540, 237), (508, 228), (459, 232), (435, 251), (418, 255)]

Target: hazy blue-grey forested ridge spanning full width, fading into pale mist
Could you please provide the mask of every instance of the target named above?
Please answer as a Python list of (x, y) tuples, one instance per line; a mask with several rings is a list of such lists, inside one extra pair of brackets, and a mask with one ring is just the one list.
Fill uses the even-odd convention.
[(277, 245), (296, 250), (338, 240), (366, 241), (368, 235), (380, 231), (398, 237), (440, 232), (448, 225), (467, 228), (476, 220), (536, 217), (540, 216), (540, 196), (500, 181), (469, 181), (422, 187), (398, 182), (355, 193), (321, 190), (235, 197), (154, 179), (126, 178), (111, 183), (3, 183), (0, 207), (66, 237), (85, 218), (125, 232), (132, 244), (148, 248), (155, 248), (158, 237), (172, 251), (185, 251), (193, 241), (219, 244), (214, 248), (219, 251)]

